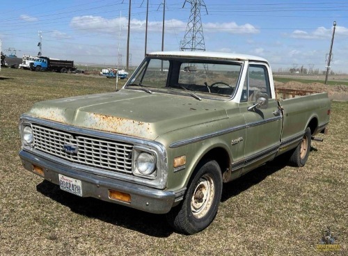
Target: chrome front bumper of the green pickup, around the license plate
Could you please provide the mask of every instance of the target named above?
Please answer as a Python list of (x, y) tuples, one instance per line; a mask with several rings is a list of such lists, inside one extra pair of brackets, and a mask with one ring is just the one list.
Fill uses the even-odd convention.
[[(44, 170), (45, 179), (54, 184), (59, 184), (58, 174), (65, 175), (74, 179), (79, 179), (82, 184), (82, 196), (92, 197), (119, 205), (125, 205), (134, 209), (148, 211), (153, 214), (166, 214), (171, 210), (175, 202), (182, 198), (184, 191), (163, 191), (152, 189), (147, 186), (123, 182), (118, 179), (102, 177), (83, 170), (70, 168), (61, 163), (45, 159), (21, 150), (19, 157), (26, 170), (33, 172), (33, 165), (39, 166)], [(109, 189), (128, 193), (131, 195), (131, 202), (122, 202), (109, 198)]]

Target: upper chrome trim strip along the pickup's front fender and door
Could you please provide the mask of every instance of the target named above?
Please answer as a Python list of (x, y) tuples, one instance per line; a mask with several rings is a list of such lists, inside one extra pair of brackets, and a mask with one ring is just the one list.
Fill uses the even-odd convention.
[(233, 131), (239, 131), (241, 129), (246, 129), (246, 128), (249, 128), (249, 127), (255, 127), (255, 126), (258, 126), (258, 125), (263, 125), (263, 124), (266, 124), (267, 122), (274, 122), (276, 120), (280, 120), (281, 118), (282, 118), (282, 116), (276, 116), (274, 118), (269, 118), (269, 119), (266, 119), (266, 120), (261, 120), (261, 121), (257, 121), (257, 122), (250, 122), (250, 123), (248, 123), (246, 125), (238, 125), (238, 126), (231, 127), (231, 128), (228, 128), (228, 129), (223, 129), (221, 131), (214, 131), (211, 134), (204, 134), (204, 135), (201, 135), (201, 136), (196, 136), (196, 137), (193, 137), (193, 138), (187, 138), (187, 139), (184, 139), (182, 141), (177, 141), (175, 143), (171, 143), (171, 145), (169, 145), (169, 147), (170, 148), (181, 147), (183, 145), (196, 143), (198, 141), (204, 141), (204, 140), (207, 140), (208, 138), (214, 138), (214, 137), (221, 136), (221, 135), (224, 135), (224, 134), (229, 134), (229, 133), (231, 133)]

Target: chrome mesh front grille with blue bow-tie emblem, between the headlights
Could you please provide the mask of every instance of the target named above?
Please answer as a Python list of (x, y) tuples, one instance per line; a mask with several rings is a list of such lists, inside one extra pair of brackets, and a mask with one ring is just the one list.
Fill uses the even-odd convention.
[(35, 150), (84, 166), (132, 174), (132, 144), (35, 124), (32, 127)]

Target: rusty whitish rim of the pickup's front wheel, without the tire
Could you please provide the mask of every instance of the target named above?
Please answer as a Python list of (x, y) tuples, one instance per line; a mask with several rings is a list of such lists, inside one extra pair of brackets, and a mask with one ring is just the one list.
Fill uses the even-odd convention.
[(209, 175), (204, 175), (196, 183), (191, 198), (191, 211), (194, 217), (203, 218), (212, 207), (215, 195), (214, 181)]

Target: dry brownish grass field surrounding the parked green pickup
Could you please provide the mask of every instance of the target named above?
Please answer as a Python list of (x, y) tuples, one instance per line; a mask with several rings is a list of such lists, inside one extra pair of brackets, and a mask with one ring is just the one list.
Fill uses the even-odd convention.
[(226, 184), (212, 225), (185, 236), (163, 215), (79, 198), (21, 166), (19, 115), (34, 102), (115, 89), (99, 76), (1, 70), (1, 255), (325, 255), (327, 227), (339, 244), (329, 255), (348, 255), (348, 102), (332, 102), (305, 167), (272, 162)]

